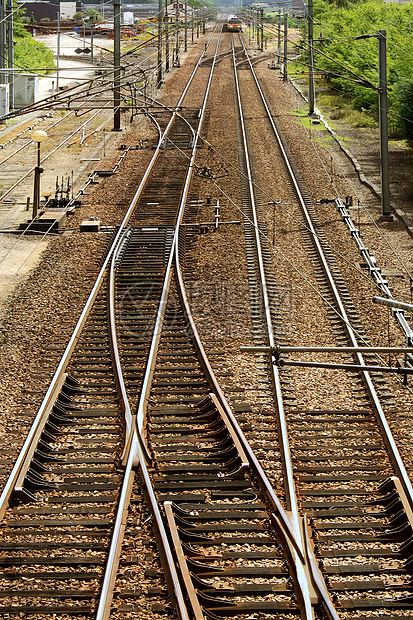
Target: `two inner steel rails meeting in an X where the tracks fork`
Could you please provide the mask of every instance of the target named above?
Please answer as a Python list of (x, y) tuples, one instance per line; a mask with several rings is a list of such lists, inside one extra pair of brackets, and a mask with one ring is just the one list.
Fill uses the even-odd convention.
[[(213, 34), (214, 33), (212, 33), (209, 41), (211, 41)], [(158, 149), (160, 148), (160, 144), (166, 137), (167, 132), (169, 131), (172, 125), (173, 118), (178, 113), (177, 111), (179, 109), (179, 106), (181, 105), (186, 93), (188, 92), (188, 88), (200, 66), (200, 60), (206, 53), (206, 49), (207, 47), (204, 49), (203, 53), (201, 54), (201, 57), (198, 60), (198, 63), (196, 67), (194, 68), (194, 71), (191, 74), (189, 81), (186, 84), (186, 87), (181, 97), (179, 98), (173, 117), (170, 119), (167, 128), (165, 129), (165, 131), (160, 137), (160, 143), (158, 144)], [(209, 93), (209, 85), (211, 81), (212, 71), (213, 71), (213, 67), (211, 68), (210, 79), (208, 81), (208, 87), (206, 90), (206, 94), (204, 96), (204, 104), (203, 104), (204, 110), (206, 106), (207, 95)], [(176, 598), (176, 602), (177, 602), (177, 606), (179, 610), (180, 620), (189, 620), (189, 615), (188, 615), (185, 600), (182, 594), (182, 589), (181, 589), (178, 574), (176, 571), (176, 566), (175, 566), (174, 558), (172, 555), (172, 550), (169, 544), (168, 536), (165, 530), (162, 515), (160, 513), (160, 510), (157, 504), (155, 492), (152, 487), (152, 483), (151, 483), (151, 479), (150, 479), (150, 475), (149, 475), (149, 471), (147, 467), (149, 452), (148, 452), (145, 438), (144, 438), (144, 424), (145, 424), (145, 412), (146, 412), (147, 400), (148, 400), (153, 372), (155, 368), (156, 354), (157, 354), (157, 349), (158, 349), (161, 330), (162, 330), (164, 313), (165, 313), (165, 309), (166, 309), (166, 305), (168, 301), (170, 282), (171, 282), (172, 275), (173, 275), (172, 273), (173, 262), (174, 262), (175, 248), (177, 246), (179, 224), (182, 221), (184, 209), (186, 206), (186, 200), (187, 200), (187, 195), (189, 191), (189, 183), (192, 177), (193, 163), (194, 163), (194, 159), (196, 155), (196, 145), (197, 145), (199, 132), (202, 126), (202, 120), (203, 120), (203, 114), (201, 114), (200, 116), (198, 130), (196, 134), (193, 128), (191, 127), (191, 131), (194, 135), (192, 154), (191, 154), (191, 159), (190, 159), (190, 163), (189, 163), (188, 171), (186, 175), (184, 191), (183, 191), (181, 201), (180, 201), (179, 212), (177, 215), (176, 230), (175, 230), (175, 234), (174, 234), (174, 238), (173, 238), (173, 242), (171, 246), (168, 264), (165, 270), (164, 284), (162, 288), (161, 299), (158, 304), (158, 310), (157, 310), (157, 315), (155, 319), (155, 326), (153, 330), (150, 351), (149, 351), (148, 360), (147, 360), (146, 368), (145, 368), (143, 386), (141, 388), (138, 407), (137, 407), (136, 424), (132, 425), (133, 418), (130, 412), (130, 406), (126, 405), (126, 402), (128, 400), (126, 389), (122, 389), (122, 394), (121, 394), (122, 399), (126, 399), (124, 406), (126, 407), (126, 410), (129, 411), (129, 415), (131, 416), (130, 417), (131, 431), (130, 431), (129, 440), (125, 446), (124, 454), (122, 457), (123, 461), (126, 460), (126, 469), (125, 469), (125, 475), (124, 475), (123, 483), (122, 483), (121, 499), (120, 499), (120, 503), (117, 509), (116, 520), (115, 520), (115, 525), (114, 525), (114, 530), (113, 530), (113, 535), (112, 535), (112, 540), (111, 540), (111, 545), (110, 545), (110, 550), (109, 550), (109, 556), (108, 556), (108, 560), (107, 560), (106, 567), (105, 567), (105, 575), (104, 575), (103, 585), (102, 585), (101, 594), (99, 598), (99, 605), (98, 605), (96, 620), (107, 620), (110, 615), (110, 606), (111, 606), (111, 602), (113, 599), (113, 586), (115, 583), (117, 568), (119, 565), (119, 557), (120, 557), (122, 540), (123, 540), (124, 530), (125, 530), (124, 515), (127, 510), (129, 499), (130, 499), (130, 491), (129, 491), (129, 489), (131, 488), (130, 478), (131, 476), (134, 475), (133, 469), (136, 467), (140, 467), (140, 470), (141, 470), (141, 473), (142, 473), (142, 476), (145, 482), (146, 491), (149, 496), (151, 509), (152, 509), (152, 512), (153, 512), (153, 515), (156, 521), (156, 525), (159, 531), (159, 535), (162, 541), (162, 553), (164, 554), (164, 558), (166, 560), (167, 568), (169, 571), (170, 580), (172, 581), (173, 590), (175, 593), (175, 598)], [(145, 183), (144, 183), (144, 180), (141, 181), (140, 187), (141, 186), (143, 187), (143, 184), (146, 184), (146, 180), (147, 180), (147, 176), (145, 179)], [(127, 221), (129, 221), (129, 219), (130, 219), (130, 216)], [(120, 248), (120, 242), (118, 244), (118, 247)], [(113, 260), (112, 265), (114, 266), (114, 264), (115, 262)], [(113, 284), (112, 291), (114, 291), (114, 279), (111, 279), (111, 282)], [(111, 304), (111, 313), (112, 312), (114, 313), (114, 303)], [(113, 328), (115, 329), (114, 315), (111, 318), (111, 324)], [(116, 342), (116, 336), (114, 338), (114, 342)], [(121, 385), (123, 385), (120, 361), (119, 361), (118, 372), (119, 372), (119, 379), (121, 380)], [(124, 388), (124, 385), (123, 385), (123, 388)]]

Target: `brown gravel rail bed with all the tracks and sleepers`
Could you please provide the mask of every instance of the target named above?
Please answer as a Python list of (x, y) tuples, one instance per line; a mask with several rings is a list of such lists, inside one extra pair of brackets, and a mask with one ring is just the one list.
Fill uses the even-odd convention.
[(21, 233), (53, 238), (2, 306), (2, 618), (413, 617), (413, 241), (224, 23)]

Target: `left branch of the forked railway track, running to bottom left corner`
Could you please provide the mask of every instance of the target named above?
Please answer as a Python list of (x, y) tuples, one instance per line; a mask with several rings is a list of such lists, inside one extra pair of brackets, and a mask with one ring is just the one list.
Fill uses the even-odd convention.
[[(192, 120), (196, 126), (198, 116)], [(1, 498), (4, 530), (0, 562), (2, 598), (10, 604), (2, 607), (2, 613), (90, 616), (100, 605), (108, 613), (105, 591), (100, 591), (122, 482), (128, 485), (120, 469), (122, 449), (127, 460), (130, 436), (136, 437), (136, 418), (131, 414), (126, 390), (133, 397), (142, 380), (139, 365), (150, 348), (148, 328), (154, 319), (156, 322), (159, 301), (159, 289), (153, 282), (159, 276), (162, 291), (168, 264), (171, 278), (171, 242), (182, 191), (185, 182), (189, 183), (191, 157), (178, 147), (172, 154), (165, 145), (171, 137), (177, 139), (183, 128), (188, 136), (186, 142), (193, 141), (195, 132), (190, 122), (183, 122), (175, 111), (170, 114), (165, 132), (159, 131), (151, 165), (123, 227), (115, 234), (112, 249), (5, 486)], [(194, 145), (192, 150), (194, 154)], [(157, 205), (148, 204), (151, 191), (165, 180), (165, 166), (170, 178), (168, 191), (165, 197), (158, 192)], [(159, 208), (155, 207), (160, 203), (164, 215), (161, 213), (156, 220), (154, 213)], [(134, 215), (134, 209), (140, 209), (139, 213)], [(148, 223), (152, 227), (157, 224), (157, 230), (148, 230)], [(164, 244), (159, 262), (161, 238)], [(128, 310), (129, 299), (133, 313)], [(142, 316), (147, 311), (144, 324)], [(116, 339), (122, 361), (112, 346)], [(131, 462), (135, 459), (134, 454)], [(127, 473), (131, 473), (130, 469)], [(116, 528), (115, 533), (119, 535)]]

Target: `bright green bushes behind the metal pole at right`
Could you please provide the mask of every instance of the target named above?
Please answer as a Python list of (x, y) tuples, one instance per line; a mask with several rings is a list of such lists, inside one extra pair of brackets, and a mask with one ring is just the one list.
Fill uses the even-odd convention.
[[(378, 39), (386, 31), (390, 115), (412, 134), (413, 5), (383, 0), (315, 0), (314, 64), (354, 109), (378, 117)], [(359, 35), (369, 38), (355, 39)], [(319, 50), (321, 53), (319, 53)], [(325, 54), (325, 55), (323, 55)], [(370, 84), (370, 87), (369, 87)], [(373, 88), (372, 88), (373, 87)]]

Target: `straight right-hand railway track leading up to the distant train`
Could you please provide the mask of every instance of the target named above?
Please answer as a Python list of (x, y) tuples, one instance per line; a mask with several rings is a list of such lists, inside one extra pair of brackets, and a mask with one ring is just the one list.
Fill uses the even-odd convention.
[[(244, 47), (243, 51), (247, 55)], [(323, 301), (327, 304), (337, 345), (368, 347), (361, 320), (323, 237), (310, 197), (259, 86), (251, 61), (247, 60), (250, 79), (254, 79), (271, 133), (284, 158), (288, 182), (301, 206), (303, 237)], [(235, 75), (236, 65), (234, 53)], [(246, 88), (245, 71), (243, 75)], [(239, 107), (242, 108), (241, 95)], [(248, 149), (252, 147), (246, 130), (243, 135), (247, 161), (250, 157)], [(248, 163), (244, 164), (244, 170), (244, 186), (249, 190), (246, 192), (245, 213), (250, 228), (254, 229), (253, 232), (247, 231), (247, 244), (249, 237), (254, 237), (256, 242), (255, 255), (250, 259), (251, 272), (256, 277), (255, 288), (264, 290), (261, 316), (267, 318), (262, 325), (261, 337), (275, 351), (283, 341), (278, 337), (275, 344), (272, 337), (275, 332), (273, 315), (277, 319), (276, 312), (280, 312), (274, 300), (272, 259), (259, 198), (256, 200), (255, 177)], [(268, 291), (267, 299), (265, 291)], [(288, 354), (284, 356), (288, 364)], [(272, 357), (269, 365), (276, 366), (274, 400), (282, 441), (287, 506), (291, 505), (291, 498), (297, 497), (297, 514), (309, 519), (314, 550), (336, 605), (336, 613), (357, 618), (370, 618), (377, 613), (386, 618), (410, 615), (411, 485), (383, 411), (382, 403), (389, 404), (383, 375), (379, 371), (369, 373), (363, 370), (363, 367), (375, 364), (375, 356), (358, 351), (343, 353), (343, 362), (360, 368), (360, 371), (351, 373), (351, 385), (358, 399), (356, 408), (323, 410), (315, 401), (313, 408), (292, 408), (287, 413), (278, 357)], [(265, 449), (266, 442), (263, 443)], [(397, 505), (395, 511), (392, 505)], [(294, 510), (293, 504), (293, 513)]]

